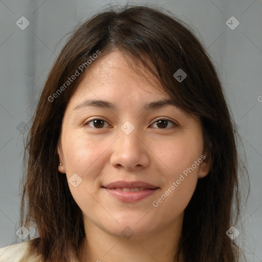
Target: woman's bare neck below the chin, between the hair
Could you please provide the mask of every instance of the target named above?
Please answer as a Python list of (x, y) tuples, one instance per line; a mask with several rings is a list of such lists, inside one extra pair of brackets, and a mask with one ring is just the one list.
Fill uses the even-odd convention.
[(175, 256), (182, 222), (183, 214), (175, 223), (164, 229), (126, 239), (122, 235), (112, 235), (91, 221), (86, 221), (85, 229), (88, 230), (85, 230), (85, 239), (79, 247), (79, 260), (81, 262), (177, 262)]

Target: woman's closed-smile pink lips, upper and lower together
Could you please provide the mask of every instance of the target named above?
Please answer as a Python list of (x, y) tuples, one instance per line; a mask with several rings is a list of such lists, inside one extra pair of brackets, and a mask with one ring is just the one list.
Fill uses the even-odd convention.
[[(141, 191), (122, 191), (119, 188), (145, 188)], [(106, 190), (112, 197), (120, 200), (121, 202), (133, 203), (149, 197), (154, 194), (160, 187), (142, 182), (142, 181), (116, 181), (111, 184), (102, 186), (102, 189)]]

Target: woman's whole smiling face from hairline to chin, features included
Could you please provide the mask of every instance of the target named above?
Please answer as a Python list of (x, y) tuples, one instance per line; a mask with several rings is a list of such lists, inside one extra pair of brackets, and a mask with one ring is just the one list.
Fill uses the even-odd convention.
[(181, 225), (209, 165), (199, 117), (172, 104), (147, 108), (168, 99), (117, 50), (86, 72), (65, 111), (58, 148), (59, 171), (85, 226), (134, 239)]

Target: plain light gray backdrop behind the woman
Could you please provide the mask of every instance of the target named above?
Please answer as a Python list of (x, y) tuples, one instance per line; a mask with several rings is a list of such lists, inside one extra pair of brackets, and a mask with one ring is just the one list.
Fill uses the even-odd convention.
[[(24, 152), (19, 130), (25, 123), (30, 126), (47, 74), (67, 39), (63, 36), (107, 3), (126, 4), (125, 1), (0, 1), (0, 248), (21, 242), (16, 235)], [(213, 58), (248, 159), (251, 192), (242, 219), (244, 231), (237, 239), (248, 261), (262, 261), (261, 0), (168, 0), (129, 4), (157, 4), (176, 14), (192, 27)], [(30, 21), (25, 30), (16, 25), (21, 16)], [(240, 23), (234, 30), (226, 25), (231, 16)]]

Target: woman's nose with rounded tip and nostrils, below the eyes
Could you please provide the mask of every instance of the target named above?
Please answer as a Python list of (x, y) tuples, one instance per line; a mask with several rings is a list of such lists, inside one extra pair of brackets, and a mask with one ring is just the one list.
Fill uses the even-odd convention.
[(119, 129), (118, 134), (118, 139), (112, 145), (111, 164), (127, 170), (147, 167), (150, 160), (149, 142), (139, 128), (134, 128), (129, 134), (124, 128)]

